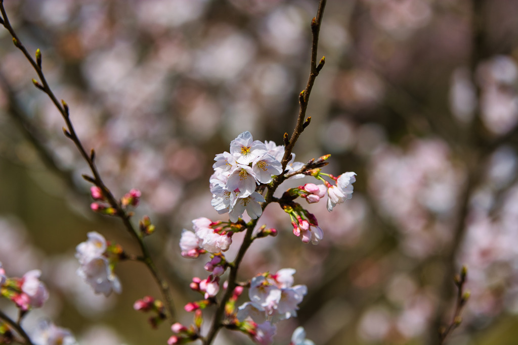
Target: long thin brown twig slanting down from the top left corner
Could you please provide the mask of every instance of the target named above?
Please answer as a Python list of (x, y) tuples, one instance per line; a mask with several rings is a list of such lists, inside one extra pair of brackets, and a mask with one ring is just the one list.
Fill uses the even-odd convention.
[(93, 174), (93, 178), (88, 178), (88, 181), (92, 182), (93, 184), (95, 184), (97, 187), (99, 187), (102, 190), (103, 195), (107, 199), (110, 206), (113, 207), (114, 209), (116, 209), (116, 216), (121, 218), (126, 230), (137, 241), (137, 243), (140, 247), (140, 250), (142, 252), (142, 257), (143, 257), (142, 262), (146, 264), (149, 271), (151, 272), (151, 275), (155, 279), (156, 283), (159, 285), (159, 288), (162, 292), (162, 296), (164, 298), (166, 310), (167, 310), (167, 318), (170, 323), (173, 323), (175, 320), (175, 310), (174, 310), (174, 305), (172, 302), (172, 297), (169, 292), (169, 284), (167, 283), (167, 281), (165, 281), (161, 277), (161, 275), (157, 271), (156, 266), (150, 257), (147, 247), (144, 245), (142, 238), (140, 237), (139, 233), (137, 232), (137, 230), (135, 229), (135, 227), (133, 226), (133, 224), (130, 220), (131, 216), (124, 211), (124, 209), (121, 207), (120, 203), (113, 196), (113, 194), (108, 189), (108, 187), (106, 187), (102, 178), (100, 177), (99, 171), (97, 170), (97, 167), (96, 167), (96, 164), (94, 161), (94, 159), (95, 159), (94, 150), (92, 149), (92, 151), (90, 153), (87, 153), (87, 151), (84, 149), (79, 137), (76, 134), (74, 126), (70, 120), (68, 104), (63, 100), (61, 102), (59, 102), (57, 100), (57, 98), (55, 97), (54, 93), (52, 92), (52, 89), (50, 88), (50, 86), (45, 78), (45, 75), (42, 71), (42, 68), (41, 68), (42, 62), (41, 62), (40, 50), (38, 49), (36, 51), (36, 60), (31, 56), (31, 54), (28, 53), (27, 49), (23, 46), (21, 40), (19, 39), (18, 35), (16, 34), (15, 30), (12, 28), (12, 26), (9, 22), (9, 18), (7, 17), (7, 13), (4, 8), (4, 0), (0, 0), (0, 12), (2, 13), (2, 17), (3, 17), (2, 24), (7, 29), (7, 31), (9, 31), (9, 33), (11, 34), (13, 43), (15, 44), (15, 46), (18, 49), (20, 49), (22, 51), (22, 53), (23, 53), (23, 55), (25, 55), (25, 58), (27, 59), (27, 61), (31, 63), (34, 70), (38, 74), (40, 82), (33, 79), (34, 85), (37, 88), (39, 88), (42, 92), (46, 93), (49, 96), (49, 98), (51, 99), (52, 103), (54, 103), (54, 106), (57, 108), (57, 110), (59, 110), (59, 112), (61, 113), (61, 115), (65, 121), (65, 124), (66, 124), (66, 128), (63, 127), (63, 132), (65, 133), (65, 136), (74, 142), (79, 153), (81, 154), (83, 159), (88, 163), (88, 166), (90, 167), (90, 170)]

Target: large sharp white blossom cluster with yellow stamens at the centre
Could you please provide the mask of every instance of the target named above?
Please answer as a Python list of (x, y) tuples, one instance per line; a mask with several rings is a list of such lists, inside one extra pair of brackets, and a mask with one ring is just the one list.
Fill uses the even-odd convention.
[(236, 222), (244, 211), (252, 219), (261, 216), (263, 196), (255, 191), (259, 184), (270, 183), (282, 173), (283, 146), (253, 140), (249, 131), (230, 143), (230, 153), (216, 155), (210, 177), (212, 206), (219, 214), (227, 213)]

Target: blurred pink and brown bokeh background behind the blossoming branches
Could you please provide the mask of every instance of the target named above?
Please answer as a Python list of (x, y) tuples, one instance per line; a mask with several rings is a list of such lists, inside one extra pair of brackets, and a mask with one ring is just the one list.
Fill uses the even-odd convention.
[[(142, 191), (153, 257), (182, 305), (203, 260), (179, 255), (191, 220), (217, 219), (208, 177), (237, 134), (282, 143), (309, 72), (316, 0), (6, 0), (108, 187)], [(297, 269), (309, 293), (304, 325), (317, 344), (435, 344), (450, 322), (453, 275), (465, 264), (471, 297), (448, 343), (514, 344), (518, 325), (518, 2), (329, 0), (296, 160), (330, 153), (326, 172), (355, 171), (354, 196), (329, 214), (318, 246), (291, 234), (275, 204), (260, 221), (279, 235), (254, 243), (242, 279)], [(165, 343), (132, 309), (158, 295), (143, 265), (117, 267), (123, 293), (94, 295), (76, 276), (89, 231), (138, 253), (117, 219), (92, 214), (85, 163), (63, 121), (31, 83), (35, 72), (0, 30), (0, 261), (33, 268), (51, 297), (25, 321), (70, 328), (82, 344)], [(308, 179), (307, 182), (311, 182)], [(295, 182), (295, 185), (301, 180)], [(283, 186), (283, 187), (288, 187)], [(238, 243), (236, 237), (235, 243)], [(232, 251), (232, 249), (231, 249)], [(7, 303), (3, 310), (15, 312)], [(219, 344), (249, 343), (221, 332)]]

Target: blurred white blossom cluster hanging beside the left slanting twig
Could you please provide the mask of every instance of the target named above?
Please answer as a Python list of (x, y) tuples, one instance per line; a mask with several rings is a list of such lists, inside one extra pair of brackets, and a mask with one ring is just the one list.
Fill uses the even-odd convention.
[(95, 231), (88, 233), (88, 241), (76, 247), (76, 258), (80, 264), (77, 274), (90, 284), (95, 293), (105, 296), (112, 291), (121, 292), (121, 283), (113, 272), (114, 259), (109, 260), (110, 253), (114, 250), (108, 247), (103, 235)]

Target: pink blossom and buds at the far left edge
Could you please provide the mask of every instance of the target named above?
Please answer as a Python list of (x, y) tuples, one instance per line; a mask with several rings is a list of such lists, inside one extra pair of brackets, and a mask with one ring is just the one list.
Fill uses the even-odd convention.
[(0, 295), (10, 299), (22, 311), (41, 307), (49, 298), (44, 283), (39, 280), (41, 271), (33, 269), (21, 278), (9, 278), (0, 262)]

